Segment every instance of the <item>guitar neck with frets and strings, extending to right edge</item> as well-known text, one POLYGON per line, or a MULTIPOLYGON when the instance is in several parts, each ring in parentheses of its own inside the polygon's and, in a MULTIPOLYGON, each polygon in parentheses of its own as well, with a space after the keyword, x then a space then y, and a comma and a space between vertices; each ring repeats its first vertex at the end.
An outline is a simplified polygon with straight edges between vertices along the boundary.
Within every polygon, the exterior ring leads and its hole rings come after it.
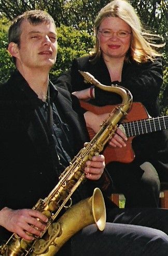
POLYGON ((143 119, 122 123, 127 137, 165 130, 168 128, 168 116, 143 119))

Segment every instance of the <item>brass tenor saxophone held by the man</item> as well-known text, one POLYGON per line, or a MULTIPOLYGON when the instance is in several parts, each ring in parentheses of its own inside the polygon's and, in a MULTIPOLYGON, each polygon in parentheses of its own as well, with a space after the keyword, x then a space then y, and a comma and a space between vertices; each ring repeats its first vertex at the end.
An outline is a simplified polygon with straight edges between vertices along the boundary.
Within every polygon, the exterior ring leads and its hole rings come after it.
POLYGON ((109 92, 115 92, 122 97, 122 103, 114 109, 101 124, 100 131, 90 143, 83 147, 77 156, 69 163, 69 166, 59 177, 59 183, 44 200, 39 199, 34 210, 38 210, 48 217, 46 230, 41 237, 35 237, 34 241, 27 241, 12 234, 8 241, 0 246, 0 254, 7 256, 44 255, 57 254, 65 242, 80 229, 92 223, 96 223, 100 231, 103 231, 106 222, 106 212, 103 195, 99 188, 95 188, 90 198, 84 199, 71 207, 71 196, 78 186, 86 180, 83 171, 87 160, 94 155, 99 155, 105 144, 113 136, 120 119, 127 114, 131 104, 131 93, 119 86, 105 86, 97 81, 88 72, 79 71, 85 81, 109 92), (59 219, 63 208, 69 208, 59 219), (54 222, 55 219, 58 219, 54 222))

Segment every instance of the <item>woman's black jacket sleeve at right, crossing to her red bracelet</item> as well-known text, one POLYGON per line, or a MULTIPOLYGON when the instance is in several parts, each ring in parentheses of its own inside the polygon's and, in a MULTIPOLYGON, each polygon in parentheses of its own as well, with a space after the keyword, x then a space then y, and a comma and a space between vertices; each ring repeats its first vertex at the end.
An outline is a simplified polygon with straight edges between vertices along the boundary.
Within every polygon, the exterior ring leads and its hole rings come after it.
MULTIPOLYGON (((130 63, 124 72, 121 85, 131 92, 133 101, 141 102, 151 116, 159 114, 158 96, 163 82, 161 59, 147 63, 130 63)), ((95 88, 95 98, 104 99, 104 105, 111 102, 111 94, 95 88)))

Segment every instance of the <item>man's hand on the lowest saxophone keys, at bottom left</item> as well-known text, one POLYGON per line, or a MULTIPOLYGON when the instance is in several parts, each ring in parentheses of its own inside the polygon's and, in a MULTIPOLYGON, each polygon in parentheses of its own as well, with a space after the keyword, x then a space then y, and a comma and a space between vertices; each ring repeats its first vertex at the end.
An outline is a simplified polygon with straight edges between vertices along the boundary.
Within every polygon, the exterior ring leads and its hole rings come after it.
POLYGON ((12 210, 5 207, 0 211, 0 225, 26 240, 34 239, 27 232, 40 236, 46 228, 45 223, 47 221, 45 215, 32 209, 12 210))

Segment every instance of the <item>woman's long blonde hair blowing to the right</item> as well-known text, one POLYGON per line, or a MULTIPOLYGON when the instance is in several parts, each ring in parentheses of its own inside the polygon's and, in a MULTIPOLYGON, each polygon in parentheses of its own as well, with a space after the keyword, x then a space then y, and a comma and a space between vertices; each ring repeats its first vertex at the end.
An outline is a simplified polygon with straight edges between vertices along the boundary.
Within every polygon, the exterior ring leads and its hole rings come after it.
POLYGON ((99 27, 102 21, 108 17, 120 18, 131 27, 132 40, 127 56, 125 56, 125 60, 132 58, 137 62, 146 62, 148 60, 153 61, 156 56, 162 56, 157 53, 153 47, 159 48, 163 47, 165 44, 151 43, 155 39, 162 39, 162 37, 145 31, 139 17, 129 2, 125 0, 114 0, 103 7, 95 19, 94 30, 96 38, 94 50, 92 52, 92 55, 94 56, 93 61, 96 61, 101 56, 101 49, 97 34, 99 33, 99 27))

